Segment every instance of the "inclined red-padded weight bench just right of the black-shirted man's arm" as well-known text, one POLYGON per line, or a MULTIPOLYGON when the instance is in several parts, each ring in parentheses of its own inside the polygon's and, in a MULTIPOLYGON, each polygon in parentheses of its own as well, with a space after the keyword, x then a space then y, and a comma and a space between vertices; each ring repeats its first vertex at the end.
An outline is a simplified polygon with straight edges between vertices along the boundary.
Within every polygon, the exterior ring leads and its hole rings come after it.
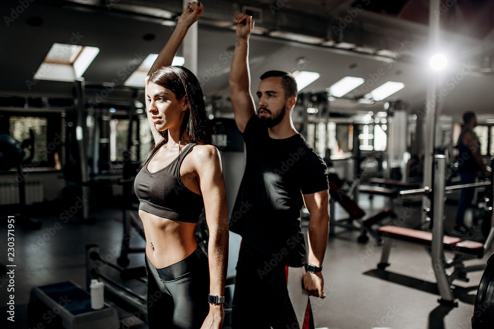
POLYGON ((342 191, 338 185, 329 181, 329 195, 331 196, 330 203, 330 217, 329 217, 329 235, 334 235, 334 226, 344 227, 348 230, 359 230, 361 231, 361 235, 357 239, 360 243, 366 243, 369 240, 367 233, 369 233, 376 241, 377 244, 381 244, 380 236, 371 228, 372 224, 379 222, 382 219, 385 219, 388 216, 393 214, 391 209, 385 209, 376 215, 363 219, 366 213, 362 210, 357 202, 353 200, 348 194, 342 191), (335 202, 338 202, 341 207, 348 213, 349 218, 346 219, 334 219, 334 206, 335 202), (357 220, 360 225, 355 226, 353 221, 357 220))

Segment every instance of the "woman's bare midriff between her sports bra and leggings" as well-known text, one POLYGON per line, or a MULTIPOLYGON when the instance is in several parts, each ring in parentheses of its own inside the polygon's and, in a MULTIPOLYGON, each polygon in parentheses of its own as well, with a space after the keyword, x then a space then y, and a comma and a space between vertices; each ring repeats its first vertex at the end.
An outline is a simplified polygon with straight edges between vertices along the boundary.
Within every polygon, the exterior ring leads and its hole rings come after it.
POLYGON ((197 248, 196 223, 165 219, 139 210, 146 235, 146 255, 156 268, 185 259, 197 248))

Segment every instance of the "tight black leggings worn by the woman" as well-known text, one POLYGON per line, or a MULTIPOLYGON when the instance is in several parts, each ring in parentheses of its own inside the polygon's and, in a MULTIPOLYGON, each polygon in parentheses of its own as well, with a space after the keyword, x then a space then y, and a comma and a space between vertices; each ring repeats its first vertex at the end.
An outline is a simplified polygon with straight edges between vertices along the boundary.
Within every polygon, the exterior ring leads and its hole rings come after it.
POLYGON ((149 328, 201 328, 209 312, 209 267, 201 248, 165 268, 146 256, 146 267, 149 328))

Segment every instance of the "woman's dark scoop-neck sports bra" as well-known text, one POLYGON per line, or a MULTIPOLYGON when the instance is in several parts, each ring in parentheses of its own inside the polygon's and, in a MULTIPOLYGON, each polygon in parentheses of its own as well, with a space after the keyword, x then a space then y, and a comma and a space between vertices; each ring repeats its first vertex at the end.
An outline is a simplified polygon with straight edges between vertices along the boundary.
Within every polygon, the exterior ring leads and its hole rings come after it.
POLYGON ((185 187, 180 180, 180 165, 195 145, 185 146, 175 160, 155 173, 148 171, 148 163, 153 157, 146 162, 134 180, 140 210, 167 219, 197 223, 204 208, 203 197, 185 187))

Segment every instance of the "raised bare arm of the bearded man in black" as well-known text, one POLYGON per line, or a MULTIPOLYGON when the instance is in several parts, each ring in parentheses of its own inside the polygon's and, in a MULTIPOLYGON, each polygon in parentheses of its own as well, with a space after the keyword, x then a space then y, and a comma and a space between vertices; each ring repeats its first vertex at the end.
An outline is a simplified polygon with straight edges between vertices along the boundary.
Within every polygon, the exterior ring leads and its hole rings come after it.
POLYGON ((230 97, 235 122, 240 132, 244 132, 248 120, 255 112, 254 100, 250 93, 250 73, 248 68, 248 38, 254 29, 252 16, 244 13, 235 15, 237 43, 230 69, 230 97))

